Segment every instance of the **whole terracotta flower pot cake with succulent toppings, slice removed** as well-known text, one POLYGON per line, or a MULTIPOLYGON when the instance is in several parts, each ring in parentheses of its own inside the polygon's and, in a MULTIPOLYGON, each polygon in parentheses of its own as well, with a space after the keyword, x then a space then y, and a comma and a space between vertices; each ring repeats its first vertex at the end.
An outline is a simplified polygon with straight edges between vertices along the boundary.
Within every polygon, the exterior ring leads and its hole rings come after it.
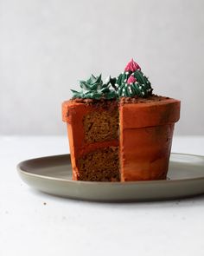
POLYGON ((153 95, 131 60, 118 78, 80 81, 62 104, 74 181, 149 181, 167 177, 180 101, 153 95))

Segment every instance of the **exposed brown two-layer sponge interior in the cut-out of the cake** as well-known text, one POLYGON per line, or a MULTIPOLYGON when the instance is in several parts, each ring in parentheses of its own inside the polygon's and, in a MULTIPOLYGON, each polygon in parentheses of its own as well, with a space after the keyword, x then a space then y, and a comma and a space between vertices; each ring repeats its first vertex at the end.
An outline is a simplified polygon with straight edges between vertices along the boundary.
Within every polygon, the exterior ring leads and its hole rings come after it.
POLYGON ((79 181, 119 181, 118 102, 75 100, 89 111, 83 116, 85 147, 77 160, 79 181))

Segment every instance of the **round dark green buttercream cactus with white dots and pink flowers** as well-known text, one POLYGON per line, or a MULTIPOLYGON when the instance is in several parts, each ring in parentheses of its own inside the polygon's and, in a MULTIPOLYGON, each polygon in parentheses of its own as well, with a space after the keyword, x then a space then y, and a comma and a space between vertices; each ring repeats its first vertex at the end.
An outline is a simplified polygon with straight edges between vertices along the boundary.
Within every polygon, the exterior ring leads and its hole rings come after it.
POLYGON ((148 77, 143 75, 137 62, 131 62, 124 68, 124 72, 118 75, 116 80, 119 97, 148 97, 152 95, 151 83, 148 77))

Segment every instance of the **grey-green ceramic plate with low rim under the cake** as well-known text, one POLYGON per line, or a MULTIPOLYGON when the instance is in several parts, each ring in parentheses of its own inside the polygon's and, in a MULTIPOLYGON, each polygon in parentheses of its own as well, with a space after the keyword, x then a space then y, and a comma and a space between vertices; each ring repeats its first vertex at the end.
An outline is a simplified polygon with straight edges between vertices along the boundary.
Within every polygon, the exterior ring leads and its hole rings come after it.
POLYGON ((72 181, 70 155, 22 161, 23 181, 42 192, 78 200, 170 200, 204 194, 204 156, 171 154, 167 181, 72 181))

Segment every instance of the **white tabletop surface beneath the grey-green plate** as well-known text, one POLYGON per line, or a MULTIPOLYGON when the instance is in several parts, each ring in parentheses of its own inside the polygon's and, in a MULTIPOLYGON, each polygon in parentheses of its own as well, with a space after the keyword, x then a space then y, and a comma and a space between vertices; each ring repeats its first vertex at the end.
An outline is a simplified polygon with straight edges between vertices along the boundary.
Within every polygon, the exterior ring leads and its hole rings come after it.
MULTIPOLYGON (((93 203, 42 194, 20 180, 17 162, 67 154, 67 143, 66 137, 0 137, 1 256, 204 255, 204 195, 93 203)), ((175 137, 172 151, 204 155, 203 146, 204 137, 175 137)))

